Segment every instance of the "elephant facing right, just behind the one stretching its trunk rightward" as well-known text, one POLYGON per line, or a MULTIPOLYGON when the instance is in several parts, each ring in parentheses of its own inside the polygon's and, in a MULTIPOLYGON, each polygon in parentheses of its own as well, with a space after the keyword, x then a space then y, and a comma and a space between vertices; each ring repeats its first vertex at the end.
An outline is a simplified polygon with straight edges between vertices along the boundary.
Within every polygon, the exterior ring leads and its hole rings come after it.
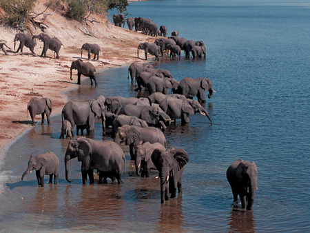
POLYGON ((213 92, 216 92, 212 88, 211 80, 208 78, 197 78, 192 79, 189 77, 185 77, 178 83, 178 94, 185 95, 186 98, 192 99, 193 97, 197 97, 199 102, 205 102, 205 90, 209 92, 208 98, 211 99, 213 96, 213 92))

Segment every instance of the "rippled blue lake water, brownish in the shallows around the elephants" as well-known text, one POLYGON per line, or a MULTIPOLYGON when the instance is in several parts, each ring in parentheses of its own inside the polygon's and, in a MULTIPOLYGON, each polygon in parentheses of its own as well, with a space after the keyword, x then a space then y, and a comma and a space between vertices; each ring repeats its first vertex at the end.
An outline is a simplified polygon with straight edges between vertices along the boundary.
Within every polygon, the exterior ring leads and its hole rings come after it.
MULTIPOLYGON (((209 77, 216 90, 205 104, 213 125, 196 114, 188 125, 177 122, 165 131, 169 147, 189 154, 182 196, 161 205, 157 173, 137 177, 125 145, 122 185, 83 186, 78 161, 70 161, 68 183, 68 140, 58 139, 56 116, 50 126, 26 132, 1 162, 0 231, 309 232, 309 2, 143 1, 130 3, 127 12, 167 26, 168 34, 178 30, 179 37, 206 43, 206 59, 149 57, 177 80, 209 77), (59 185, 37 188, 34 174, 20 181, 30 154, 50 150, 61 161, 59 185), (225 172, 237 159, 258 167, 250 212, 231 206, 225 172)), ((96 88, 85 79, 67 94, 74 100, 137 96, 127 67, 101 73, 96 88)), ((95 127, 95 139, 102 140, 100 121, 95 127)))

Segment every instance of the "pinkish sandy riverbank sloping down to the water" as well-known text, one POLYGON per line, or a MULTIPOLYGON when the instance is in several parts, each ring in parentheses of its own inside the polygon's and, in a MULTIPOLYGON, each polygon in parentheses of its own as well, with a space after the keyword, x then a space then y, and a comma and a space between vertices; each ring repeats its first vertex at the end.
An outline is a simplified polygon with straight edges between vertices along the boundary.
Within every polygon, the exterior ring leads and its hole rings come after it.
MULTIPOLYGON (((34 12, 45 10, 44 1, 37 3, 34 12)), ((97 43, 101 47, 99 61, 87 60, 87 51, 83 50, 83 61, 93 63, 97 71, 117 68, 133 61, 136 57, 138 43, 153 42, 154 37, 147 37, 140 32, 132 32, 112 25, 105 17, 92 16, 87 23, 79 23, 63 17, 60 9, 48 9, 39 17, 48 28, 45 33, 57 37, 63 43, 59 59, 54 59, 53 52, 48 50, 47 57, 31 54, 14 54, 12 42, 17 31, 0 26, 1 38, 7 41, 9 56, 0 51, 0 150, 31 127, 31 118, 27 117, 27 103, 32 97, 47 97, 52 100, 52 116, 59 114, 67 101, 62 92, 76 88, 77 71, 73 70, 70 80, 72 61, 81 59, 83 43, 97 43)), ((39 34, 39 28, 32 28, 32 34, 39 34)), ((19 42, 17 42, 18 48, 19 42)), ((41 54, 43 42, 37 41, 34 48, 41 54)), ((23 52, 30 52, 28 48, 23 52)), ((88 78, 87 78, 88 79, 88 78)), ((37 115, 36 122, 41 122, 37 115)), ((46 123, 46 119, 45 119, 46 123)))

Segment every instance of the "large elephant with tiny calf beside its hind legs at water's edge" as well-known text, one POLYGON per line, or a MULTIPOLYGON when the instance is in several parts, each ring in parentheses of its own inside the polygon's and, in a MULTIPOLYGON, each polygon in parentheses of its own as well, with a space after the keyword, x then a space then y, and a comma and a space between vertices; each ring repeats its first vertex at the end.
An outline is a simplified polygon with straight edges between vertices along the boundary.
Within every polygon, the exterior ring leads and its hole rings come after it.
MULTIPOLYGON (((90 101, 69 101, 65 103, 61 111, 61 119, 68 120, 72 125, 72 136, 74 136, 74 125, 86 125, 87 134, 94 135, 94 119, 100 117, 102 121, 103 134, 105 134, 105 97, 102 95, 90 101)), ((77 130, 76 130, 77 132, 77 130)))

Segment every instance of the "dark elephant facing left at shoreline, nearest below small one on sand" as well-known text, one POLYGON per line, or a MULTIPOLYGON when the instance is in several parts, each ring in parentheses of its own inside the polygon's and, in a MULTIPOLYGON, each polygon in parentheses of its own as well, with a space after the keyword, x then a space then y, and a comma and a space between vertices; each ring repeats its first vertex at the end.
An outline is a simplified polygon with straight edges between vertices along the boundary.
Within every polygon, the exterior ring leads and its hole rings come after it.
POLYGON ((81 59, 72 61, 70 67, 70 79, 72 80, 72 70, 78 70, 78 81, 76 84, 81 85, 81 75, 90 77, 90 85, 92 85, 92 79, 94 79, 95 85, 97 85, 97 72, 94 65, 90 62, 83 62, 81 59))

